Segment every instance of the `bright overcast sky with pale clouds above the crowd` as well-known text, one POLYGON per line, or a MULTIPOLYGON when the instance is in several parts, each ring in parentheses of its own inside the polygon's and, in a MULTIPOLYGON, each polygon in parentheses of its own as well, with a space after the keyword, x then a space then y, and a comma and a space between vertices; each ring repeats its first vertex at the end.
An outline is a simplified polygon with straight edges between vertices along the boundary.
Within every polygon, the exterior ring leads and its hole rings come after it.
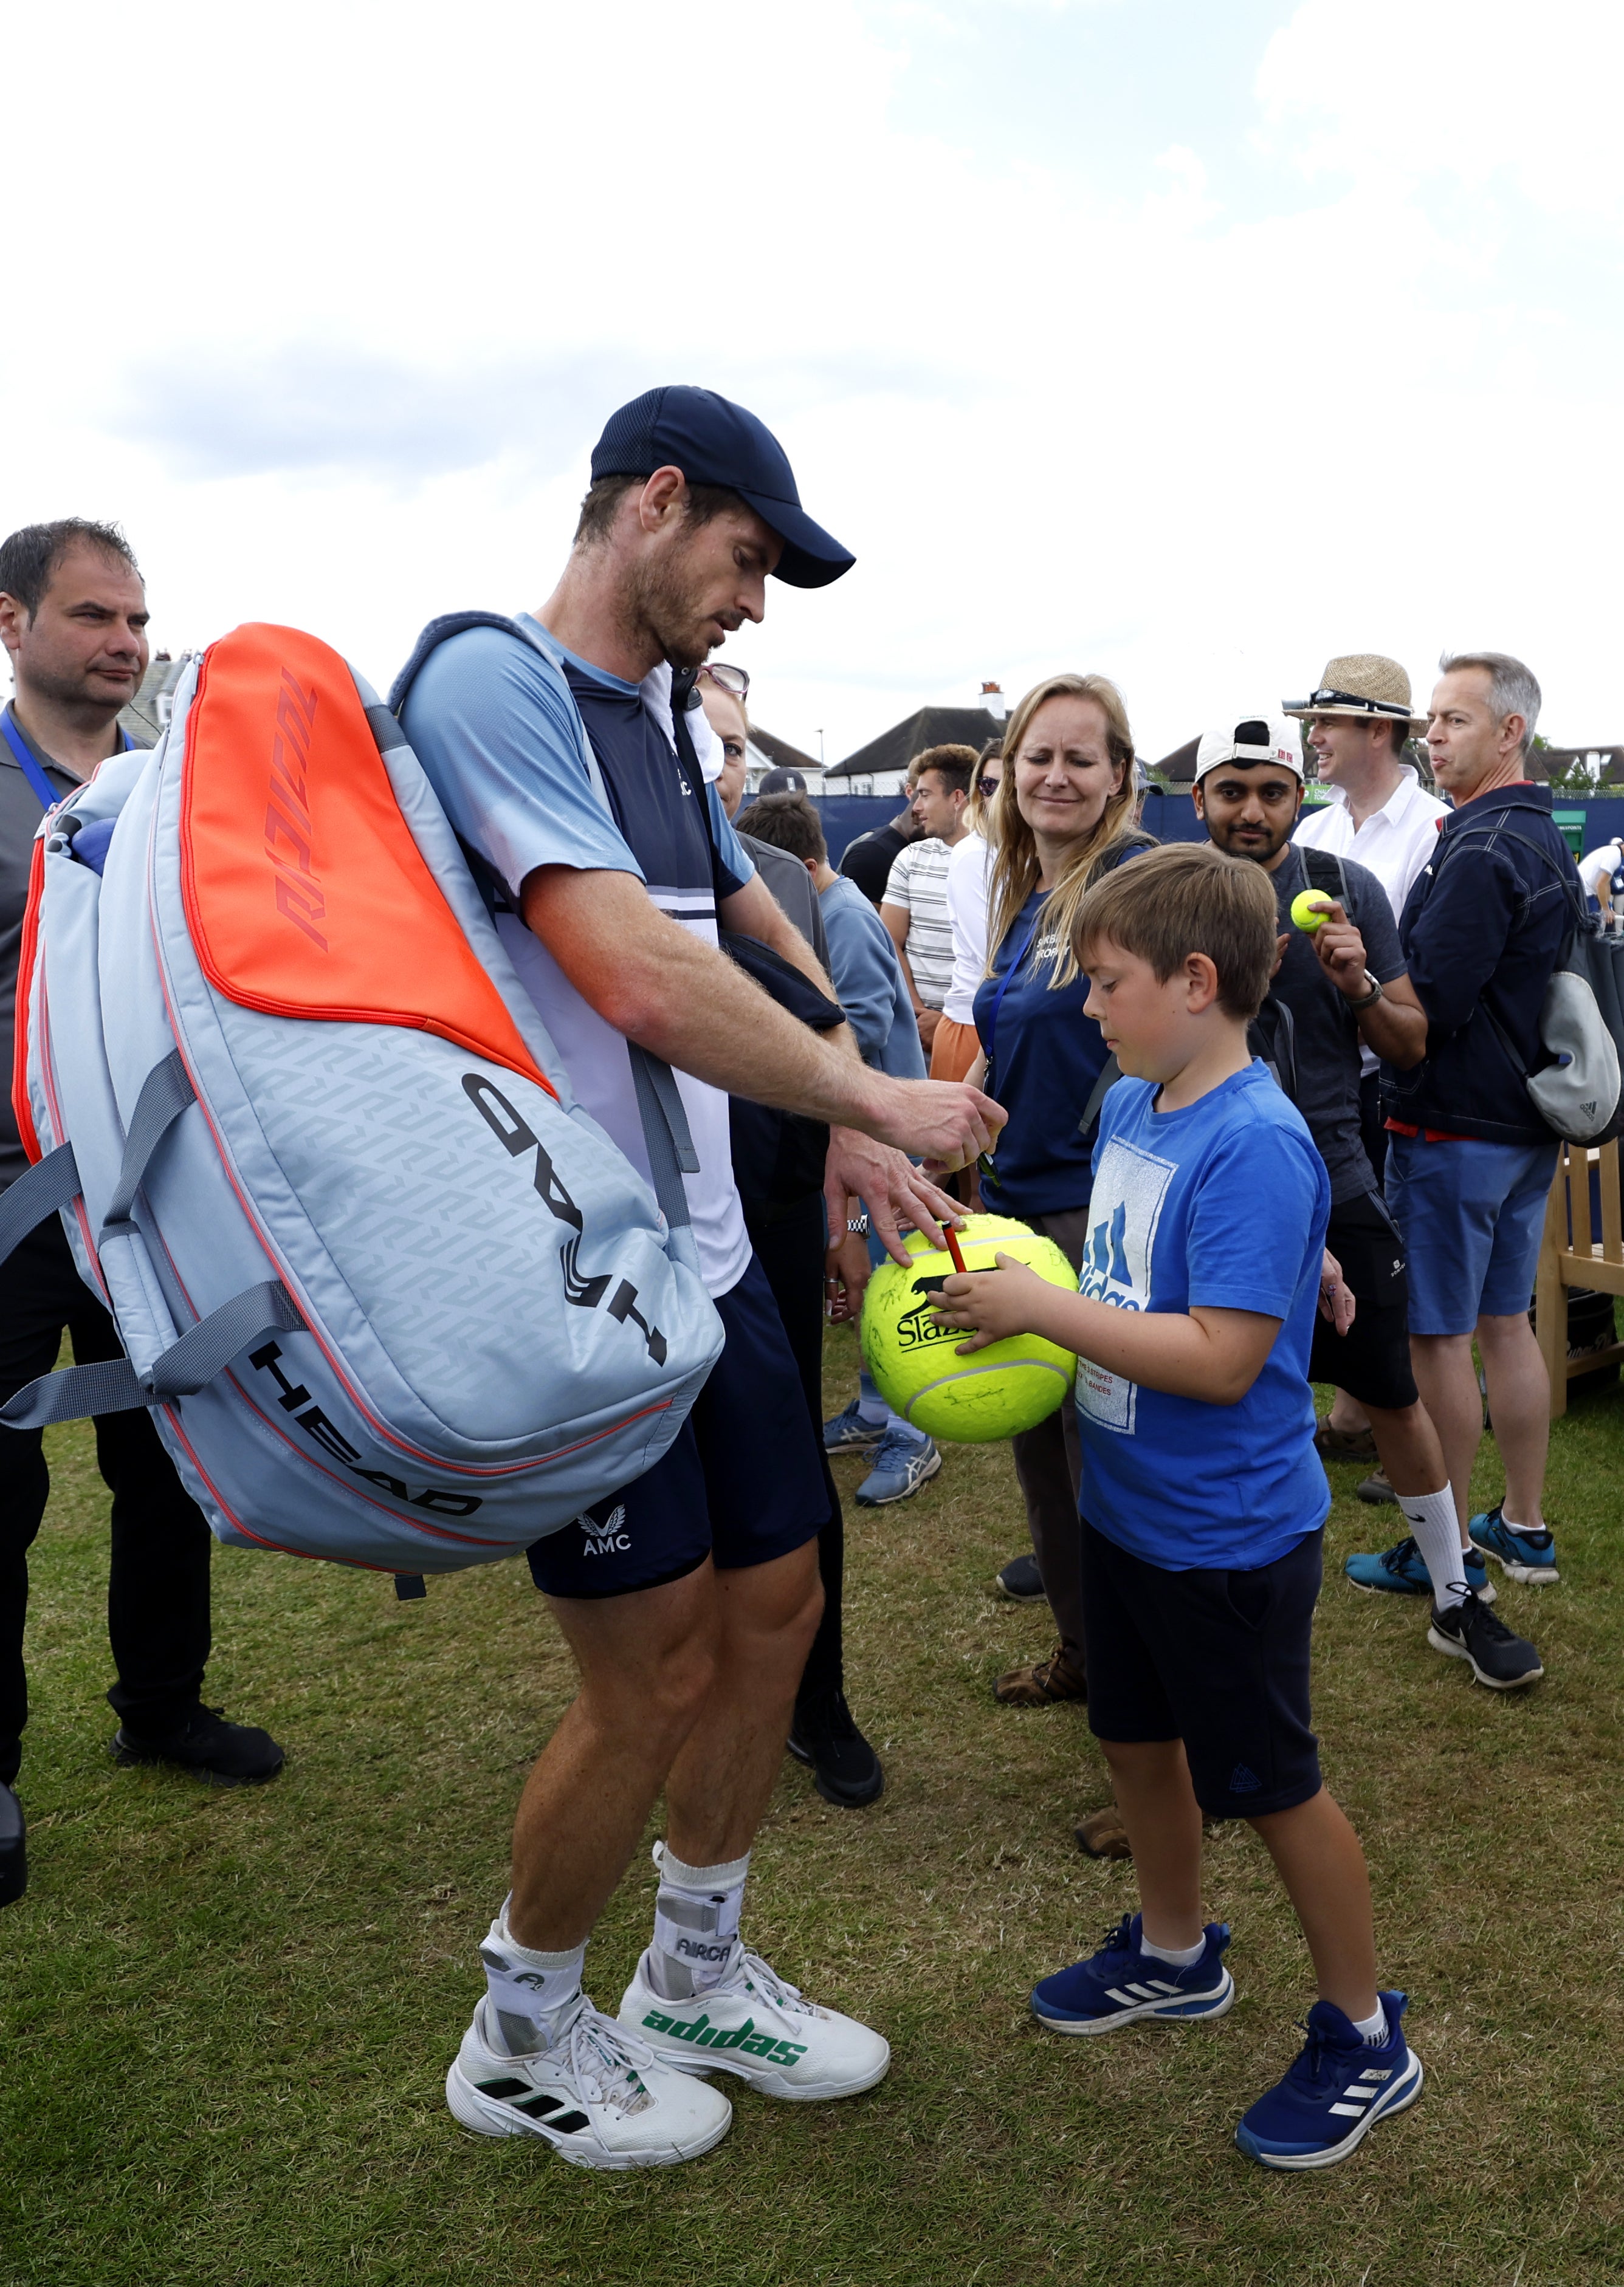
POLYGON ((538 604, 606 412, 759 412, 858 556, 727 656, 828 759, 1114 675, 1141 752, 1334 652, 1624 739, 1624 11, 82 0, 5 37, 0 528, 387 684, 538 604))

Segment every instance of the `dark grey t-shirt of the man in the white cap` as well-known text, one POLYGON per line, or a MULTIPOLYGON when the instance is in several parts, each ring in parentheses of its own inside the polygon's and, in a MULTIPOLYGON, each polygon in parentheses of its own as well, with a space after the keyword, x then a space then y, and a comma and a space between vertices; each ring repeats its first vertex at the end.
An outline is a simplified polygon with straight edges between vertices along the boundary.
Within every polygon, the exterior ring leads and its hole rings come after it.
MULTIPOLYGON (((1343 867, 1347 919, 1366 940, 1366 967, 1386 986, 1407 967, 1393 908, 1368 867, 1354 864, 1352 858, 1343 860, 1343 867)), ((1274 871, 1274 903, 1290 942, 1269 990, 1292 1013, 1297 1109, 1331 1178, 1331 1205, 1343 1208, 1350 1198, 1375 1192, 1377 1180, 1359 1141, 1359 1020, 1320 967, 1313 940, 1295 929, 1290 917, 1292 899, 1308 887, 1320 885, 1308 880, 1304 855, 1290 844, 1274 871)), ((1327 897, 1336 894, 1327 887, 1327 897)))

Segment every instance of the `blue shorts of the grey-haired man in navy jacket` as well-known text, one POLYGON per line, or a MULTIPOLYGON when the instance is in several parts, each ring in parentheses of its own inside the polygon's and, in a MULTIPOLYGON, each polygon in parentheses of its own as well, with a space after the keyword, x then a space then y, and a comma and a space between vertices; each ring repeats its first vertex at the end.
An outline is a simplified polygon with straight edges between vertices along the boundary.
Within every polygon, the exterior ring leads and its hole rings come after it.
POLYGON ((1411 1333, 1471 1333, 1535 1290, 1555 1144, 1388 1137, 1386 1203, 1404 1237, 1411 1333))

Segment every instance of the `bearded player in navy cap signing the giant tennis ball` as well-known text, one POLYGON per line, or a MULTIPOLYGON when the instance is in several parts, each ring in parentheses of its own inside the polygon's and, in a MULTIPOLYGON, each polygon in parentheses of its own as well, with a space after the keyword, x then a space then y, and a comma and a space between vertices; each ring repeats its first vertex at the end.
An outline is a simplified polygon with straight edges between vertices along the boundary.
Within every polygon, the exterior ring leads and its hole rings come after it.
POLYGON ((830 1226, 862 1198, 899 1260, 899 1214, 926 1233, 952 1214, 906 1153, 961 1166, 1002 1114, 965 1084, 869 1070, 849 1027, 812 1031, 718 954, 721 922, 828 993, 704 787, 684 704, 691 670, 762 617, 769 574, 821 588, 849 565, 753 414, 707 389, 654 389, 599 437, 540 611, 439 622, 396 684, 576 1098, 640 1169, 627 1043, 675 1066, 698 1150, 693 1235, 727 1336, 670 1452, 531 1551, 581 1690, 526 1784, 512 1891, 483 1946, 487 1994, 446 2095, 467 2127, 540 2136, 588 2168, 718 2143, 732 2111, 698 2074, 794 2099, 853 2095, 890 2065, 878 2033, 803 1999, 739 1939, 819 1619, 826 1491, 743 1226, 727 1095, 828 1121, 830 1226), (586 2001, 581 1962, 661 1788, 654 1942, 615 2019, 586 2001))

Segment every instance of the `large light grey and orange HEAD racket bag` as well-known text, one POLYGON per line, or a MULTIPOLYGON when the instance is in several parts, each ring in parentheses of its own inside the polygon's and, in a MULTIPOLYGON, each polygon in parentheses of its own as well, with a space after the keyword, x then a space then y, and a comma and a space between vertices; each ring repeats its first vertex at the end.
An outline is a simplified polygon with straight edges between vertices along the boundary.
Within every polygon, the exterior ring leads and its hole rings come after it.
POLYGON ((162 743, 50 814, 18 1043, 39 1164, 0 1253, 59 1210, 128 1363, 0 1423, 153 1407, 220 1539, 512 1555, 659 1459, 721 1349, 670 1075, 638 1066, 656 1201, 398 723, 313 636, 213 645, 162 743))

